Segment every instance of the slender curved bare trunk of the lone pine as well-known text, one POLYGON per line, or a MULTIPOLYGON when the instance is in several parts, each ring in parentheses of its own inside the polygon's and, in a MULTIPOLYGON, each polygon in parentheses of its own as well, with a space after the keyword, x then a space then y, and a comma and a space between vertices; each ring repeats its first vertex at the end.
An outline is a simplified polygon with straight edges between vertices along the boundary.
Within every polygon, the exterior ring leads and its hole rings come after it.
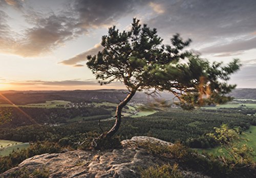
POLYGON ((120 102, 117 107, 116 107, 116 122, 115 125, 107 132, 105 133, 104 137, 108 137, 111 138, 119 129, 120 124, 121 124, 121 119, 122 119, 122 108, 132 99, 132 97, 135 95, 136 90, 132 91, 131 93, 129 93, 129 95, 127 95, 127 97, 120 102))

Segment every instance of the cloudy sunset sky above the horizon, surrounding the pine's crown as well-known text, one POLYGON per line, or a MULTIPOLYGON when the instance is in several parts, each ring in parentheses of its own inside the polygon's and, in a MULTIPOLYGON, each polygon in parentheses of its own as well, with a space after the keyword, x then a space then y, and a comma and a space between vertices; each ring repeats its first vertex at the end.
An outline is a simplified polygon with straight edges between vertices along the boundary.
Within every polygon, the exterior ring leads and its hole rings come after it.
POLYGON ((0 90, 95 90, 86 56, 102 50, 102 35, 132 18, 157 28, 169 44, 179 33, 210 61, 239 58, 229 83, 256 87, 255 0, 0 0, 0 90))

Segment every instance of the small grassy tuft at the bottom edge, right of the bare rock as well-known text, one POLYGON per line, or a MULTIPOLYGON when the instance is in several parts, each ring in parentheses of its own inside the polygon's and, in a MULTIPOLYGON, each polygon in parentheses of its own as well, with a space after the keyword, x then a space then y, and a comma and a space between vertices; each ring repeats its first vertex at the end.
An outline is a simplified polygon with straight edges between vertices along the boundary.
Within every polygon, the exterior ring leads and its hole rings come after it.
POLYGON ((149 167, 141 172, 142 178, 182 178, 178 164, 149 167))

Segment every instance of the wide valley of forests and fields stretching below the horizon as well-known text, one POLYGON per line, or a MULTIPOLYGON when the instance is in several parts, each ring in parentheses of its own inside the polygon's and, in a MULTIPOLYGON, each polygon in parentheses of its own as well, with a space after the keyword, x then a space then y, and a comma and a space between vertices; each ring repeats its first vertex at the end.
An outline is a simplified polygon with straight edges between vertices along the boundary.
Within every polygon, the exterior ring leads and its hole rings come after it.
MULTIPOLYGON (((115 122, 118 104, 117 100, 113 101, 116 93, 121 93, 118 94, 121 96, 122 91, 98 92, 100 95, 95 91, 89 94, 90 99, 80 97, 81 94, 75 91, 68 92, 73 96, 72 99, 68 99, 66 92, 63 92, 64 97, 55 96, 54 100, 48 100, 49 93, 39 92, 36 95, 44 96, 44 100, 31 99, 34 93, 14 93, 14 96, 19 95, 19 99, 11 100, 12 96, 9 100, 17 105, 4 104, 2 100, 0 109, 11 112, 11 121, 0 126, 0 143, 3 146, 0 150, 0 160, 8 159, 11 155, 23 155, 30 149, 35 152, 37 151, 34 149, 42 149, 42 152, 46 152, 48 149, 38 148, 40 143, 77 149, 77 142, 84 141, 84 138, 91 139, 102 131, 109 130, 115 122), (108 99, 105 99, 106 95, 109 95, 108 99), (23 105, 18 105, 20 99, 23 105)), ((11 96, 8 93, 5 95, 11 96)), ((239 127, 243 132, 242 136, 248 139, 242 143, 256 149, 255 100, 235 99, 224 105, 186 111, 174 104, 177 101, 173 100, 172 95, 164 94, 164 97, 166 102, 163 102, 163 98, 155 100, 139 94, 123 108, 123 123, 116 137, 121 141, 134 136, 155 137, 167 142, 179 142, 198 152, 217 156, 225 154, 225 151, 214 140, 208 138, 207 133, 213 132, 214 127, 227 124, 229 128, 239 127)))

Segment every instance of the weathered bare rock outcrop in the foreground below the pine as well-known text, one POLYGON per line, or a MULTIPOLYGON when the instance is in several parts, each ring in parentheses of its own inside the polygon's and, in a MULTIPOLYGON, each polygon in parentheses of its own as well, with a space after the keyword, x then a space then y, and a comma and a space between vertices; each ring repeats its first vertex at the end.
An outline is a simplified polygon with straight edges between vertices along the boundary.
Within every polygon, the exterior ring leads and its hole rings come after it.
MULTIPOLYGON (((13 172, 25 168, 29 172, 46 169, 49 177, 140 177, 140 170, 149 166, 166 164, 161 158, 136 148, 139 142, 172 145, 151 137, 133 137, 121 142, 122 148, 108 152, 75 150, 55 154, 42 154, 29 158, 17 167, 0 175, 10 177, 13 172)), ((185 172, 186 177, 205 177, 185 172)))

